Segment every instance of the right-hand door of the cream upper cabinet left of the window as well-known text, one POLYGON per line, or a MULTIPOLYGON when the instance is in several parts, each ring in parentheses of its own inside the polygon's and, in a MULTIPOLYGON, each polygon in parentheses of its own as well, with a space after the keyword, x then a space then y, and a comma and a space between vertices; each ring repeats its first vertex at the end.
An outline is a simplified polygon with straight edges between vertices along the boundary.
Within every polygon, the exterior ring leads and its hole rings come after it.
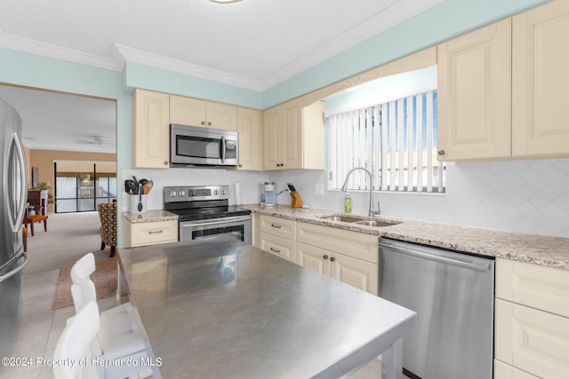
POLYGON ((281 106, 281 170, 302 168, 302 108, 300 100, 281 106))

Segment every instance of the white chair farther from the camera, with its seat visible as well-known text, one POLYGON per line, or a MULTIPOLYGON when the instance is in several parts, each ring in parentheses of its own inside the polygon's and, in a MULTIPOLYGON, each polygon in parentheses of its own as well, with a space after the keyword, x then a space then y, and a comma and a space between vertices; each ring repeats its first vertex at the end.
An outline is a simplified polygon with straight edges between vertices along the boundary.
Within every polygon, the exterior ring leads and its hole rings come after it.
MULTIPOLYGON (((90 278, 94 271, 95 260, 92 253, 79 259, 71 268, 73 282, 71 295, 76 312, 80 312, 85 304, 91 302, 96 304, 95 285, 90 278)), ((138 361, 136 366, 105 366, 104 374, 108 378, 125 377, 148 368, 141 362, 142 358, 148 358, 147 344, 140 334, 133 312, 131 304, 122 304, 100 313, 99 332, 91 342, 92 355, 100 359, 135 359, 138 361)))

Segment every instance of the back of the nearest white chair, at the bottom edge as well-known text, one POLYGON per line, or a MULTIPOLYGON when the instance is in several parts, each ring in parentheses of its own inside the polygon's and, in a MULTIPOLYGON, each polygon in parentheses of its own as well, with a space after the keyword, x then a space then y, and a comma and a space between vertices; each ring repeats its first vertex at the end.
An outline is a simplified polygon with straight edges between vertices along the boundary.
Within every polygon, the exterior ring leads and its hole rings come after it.
POLYGON ((65 364, 53 365, 55 379, 97 379, 100 368, 92 366, 91 343, 99 331, 99 307, 94 302, 85 304, 80 312, 68 320, 55 346, 53 359, 65 364), (75 364, 70 364, 75 362, 75 364))

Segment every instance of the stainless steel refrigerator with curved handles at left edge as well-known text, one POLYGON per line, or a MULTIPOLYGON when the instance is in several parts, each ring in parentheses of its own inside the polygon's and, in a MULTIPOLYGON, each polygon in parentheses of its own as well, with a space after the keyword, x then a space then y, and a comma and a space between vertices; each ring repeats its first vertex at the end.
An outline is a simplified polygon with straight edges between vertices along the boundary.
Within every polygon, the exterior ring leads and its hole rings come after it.
POLYGON ((20 133, 20 114, 0 99, 0 357, 12 345, 20 323, 21 270, 29 261, 21 233, 28 182, 20 133))

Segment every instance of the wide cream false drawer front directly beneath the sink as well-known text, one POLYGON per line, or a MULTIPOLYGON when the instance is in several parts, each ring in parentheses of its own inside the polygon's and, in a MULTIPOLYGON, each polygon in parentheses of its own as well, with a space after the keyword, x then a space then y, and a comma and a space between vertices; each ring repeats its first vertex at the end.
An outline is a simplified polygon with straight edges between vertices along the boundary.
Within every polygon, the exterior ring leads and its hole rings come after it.
POLYGON ((296 241, 373 264, 379 262, 379 240, 371 234, 299 222, 296 223, 296 241))

